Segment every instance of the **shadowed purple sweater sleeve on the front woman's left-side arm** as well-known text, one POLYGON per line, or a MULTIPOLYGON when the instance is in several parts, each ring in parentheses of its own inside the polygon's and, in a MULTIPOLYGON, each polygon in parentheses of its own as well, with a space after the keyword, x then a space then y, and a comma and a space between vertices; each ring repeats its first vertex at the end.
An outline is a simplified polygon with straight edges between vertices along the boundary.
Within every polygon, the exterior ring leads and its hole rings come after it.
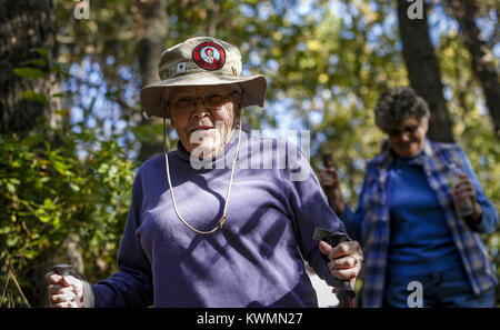
POLYGON ((91 284, 94 307, 147 307, 152 304, 151 263, 136 234, 141 223, 142 182, 138 172, 132 202, 118 254, 119 271, 91 284))

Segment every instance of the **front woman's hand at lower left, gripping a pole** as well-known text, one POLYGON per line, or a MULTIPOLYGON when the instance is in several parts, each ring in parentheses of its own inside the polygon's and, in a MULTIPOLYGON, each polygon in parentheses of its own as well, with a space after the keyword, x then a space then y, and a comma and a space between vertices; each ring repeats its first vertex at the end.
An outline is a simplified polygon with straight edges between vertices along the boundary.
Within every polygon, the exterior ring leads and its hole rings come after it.
POLYGON ((49 282, 49 301, 57 308, 81 308, 83 307, 83 283, 72 277, 61 277, 53 271, 46 274, 49 282))

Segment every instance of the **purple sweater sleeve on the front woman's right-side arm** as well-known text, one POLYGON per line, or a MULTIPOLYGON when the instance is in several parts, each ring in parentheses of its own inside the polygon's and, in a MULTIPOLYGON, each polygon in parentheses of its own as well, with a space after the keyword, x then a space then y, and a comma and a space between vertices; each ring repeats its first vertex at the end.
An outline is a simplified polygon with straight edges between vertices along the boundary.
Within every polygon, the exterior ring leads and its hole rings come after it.
POLYGON ((286 171, 284 182, 288 188, 290 218, 299 249, 303 259, 318 276, 328 284, 336 286, 338 282, 328 269, 328 257, 321 253, 319 241, 312 237, 317 227, 332 232, 346 232, 346 230, 342 221, 328 204, 327 197, 309 161, 300 149, 297 148, 296 151, 288 153, 292 160, 288 162, 290 168, 286 171))

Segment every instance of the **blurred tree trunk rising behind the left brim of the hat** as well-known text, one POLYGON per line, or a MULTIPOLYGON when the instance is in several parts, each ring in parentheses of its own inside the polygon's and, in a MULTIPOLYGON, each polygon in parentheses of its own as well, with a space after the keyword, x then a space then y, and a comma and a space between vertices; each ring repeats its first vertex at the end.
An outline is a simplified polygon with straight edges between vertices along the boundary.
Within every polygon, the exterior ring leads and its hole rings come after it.
MULTIPOLYGON (((160 54, 164 49, 168 29, 168 14, 166 0, 140 1, 141 33, 139 41, 139 69, 142 87, 160 80, 158 76, 158 63, 160 54)), ((146 120, 142 118, 141 124, 158 123, 157 118, 146 120)), ((142 142, 138 156, 140 161, 146 161, 152 156, 162 152, 161 137, 156 141, 142 142)))

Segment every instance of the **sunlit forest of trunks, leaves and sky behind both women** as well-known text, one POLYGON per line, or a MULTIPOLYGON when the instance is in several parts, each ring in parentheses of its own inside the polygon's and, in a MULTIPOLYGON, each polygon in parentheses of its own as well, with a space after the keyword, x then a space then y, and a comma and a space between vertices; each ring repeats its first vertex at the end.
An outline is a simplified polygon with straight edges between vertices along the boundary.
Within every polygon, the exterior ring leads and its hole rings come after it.
MULTIPOLYGON (((57 263, 89 281, 116 271, 134 172, 162 151, 139 90, 159 79, 163 49, 194 36, 238 46, 243 73, 267 77, 246 127, 309 130, 311 163, 332 154, 351 206, 384 138, 377 99, 411 86, 430 104, 429 138, 466 150, 499 210, 499 6, 0 0, 0 306, 47 306, 57 263)), ((500 266, 500 230, 483 239, 500 266)))

